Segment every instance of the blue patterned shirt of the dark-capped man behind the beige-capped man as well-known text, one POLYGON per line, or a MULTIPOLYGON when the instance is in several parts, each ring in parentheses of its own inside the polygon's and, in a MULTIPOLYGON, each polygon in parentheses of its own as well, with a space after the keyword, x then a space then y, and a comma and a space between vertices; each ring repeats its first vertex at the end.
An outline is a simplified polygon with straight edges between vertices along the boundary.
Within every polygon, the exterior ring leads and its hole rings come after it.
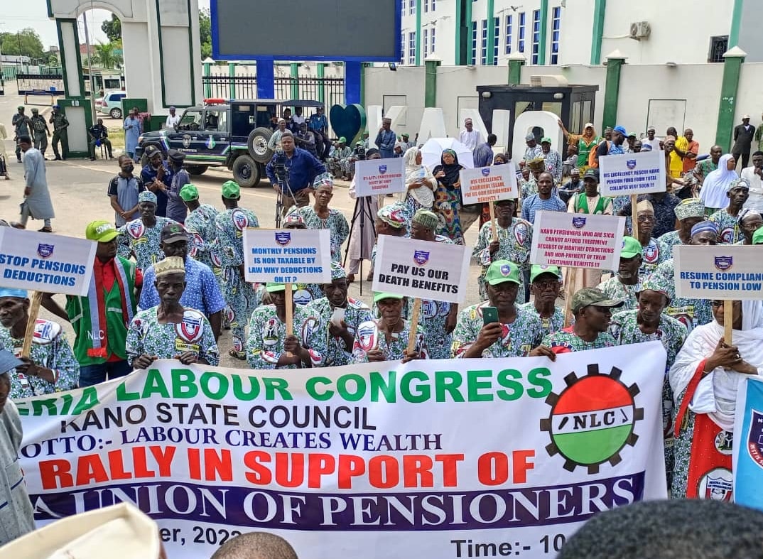
MULTIPOLYGON (((143 290, 140 291, 138 310, 148 310, 159 304, 159 294, 153 282, 156 271, 153 265, 143 271, 143 290)), ((185 257, 185 291, 180 297, 183 307, 200 310, 209 317, 225 308, 225 299, 212 268, 190 256, 185 257)))

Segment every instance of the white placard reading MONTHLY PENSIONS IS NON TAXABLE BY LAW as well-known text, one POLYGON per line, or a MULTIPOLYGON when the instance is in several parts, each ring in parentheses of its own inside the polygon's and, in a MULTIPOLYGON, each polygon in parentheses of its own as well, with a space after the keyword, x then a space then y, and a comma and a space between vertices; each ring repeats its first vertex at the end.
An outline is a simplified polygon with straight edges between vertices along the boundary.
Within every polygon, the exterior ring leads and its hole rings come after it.
POLYGON ((327 229, 246 229, 243 254, 246 281, 331 281, 331 236, 327 229))

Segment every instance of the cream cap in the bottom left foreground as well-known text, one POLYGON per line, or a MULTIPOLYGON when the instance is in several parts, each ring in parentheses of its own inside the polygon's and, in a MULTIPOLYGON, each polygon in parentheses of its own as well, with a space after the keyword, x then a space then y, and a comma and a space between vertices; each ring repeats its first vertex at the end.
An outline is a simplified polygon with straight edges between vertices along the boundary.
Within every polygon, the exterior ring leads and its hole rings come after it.
POLYGON ((13 559, 158 559, 159 527, 128 503, 57 520, 0 548, 13 559))

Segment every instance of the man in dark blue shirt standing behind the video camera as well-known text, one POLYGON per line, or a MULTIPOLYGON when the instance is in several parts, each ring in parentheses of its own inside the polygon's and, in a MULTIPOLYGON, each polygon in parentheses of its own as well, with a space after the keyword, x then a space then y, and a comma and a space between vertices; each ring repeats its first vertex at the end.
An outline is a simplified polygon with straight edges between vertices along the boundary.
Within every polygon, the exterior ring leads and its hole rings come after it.
POLYGON ((315 177, 326 172, 326 166, 311 153, 295 147, 294 135, 285 131, 281 136, 281 151, 275 153, 265 168, 273 190, 282 192, 284 216, 292 205, 307 206, 315 177), (282 175, 282 176, 278 176, 282 175))

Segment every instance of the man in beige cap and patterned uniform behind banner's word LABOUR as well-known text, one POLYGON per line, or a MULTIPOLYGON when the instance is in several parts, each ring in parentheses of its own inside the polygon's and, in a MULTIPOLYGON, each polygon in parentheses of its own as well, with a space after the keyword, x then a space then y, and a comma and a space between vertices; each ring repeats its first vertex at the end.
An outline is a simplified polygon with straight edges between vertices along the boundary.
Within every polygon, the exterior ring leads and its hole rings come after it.
POLYGON ((183 259, 169 256, 154 271, 161 302, 141 310, 130 323, 125 344, 130 364, 145 369, 156 359, 177 359, 183 365, 219 365, 211 324, 200 311, 180 304, 185 289, 183 259))

